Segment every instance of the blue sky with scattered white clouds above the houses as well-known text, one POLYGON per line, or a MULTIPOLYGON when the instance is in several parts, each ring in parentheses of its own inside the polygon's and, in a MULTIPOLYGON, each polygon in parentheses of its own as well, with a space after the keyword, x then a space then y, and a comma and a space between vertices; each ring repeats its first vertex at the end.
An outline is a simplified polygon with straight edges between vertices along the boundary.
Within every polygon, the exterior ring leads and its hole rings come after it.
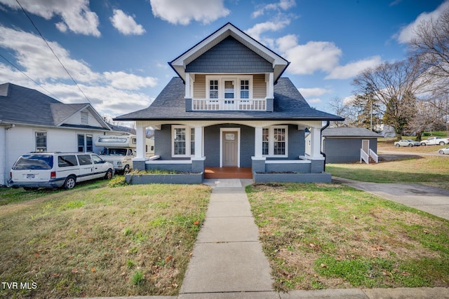
POLYGON ((332 112, 358 71, 402 60, 413 26, 444 8, 449 0, 0 0, 0 83, 113 118, 147 107, 176 76, 167 62, 232 22, 290 61, 283 76, 332 112))

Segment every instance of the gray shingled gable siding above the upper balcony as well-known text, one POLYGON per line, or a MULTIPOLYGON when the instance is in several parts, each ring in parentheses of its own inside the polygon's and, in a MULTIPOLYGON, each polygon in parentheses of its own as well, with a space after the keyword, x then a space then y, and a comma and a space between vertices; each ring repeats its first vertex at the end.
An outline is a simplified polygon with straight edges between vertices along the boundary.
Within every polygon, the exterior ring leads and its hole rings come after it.
POLYGON ((187 64, 186 73, 269 73, 273 64, 229 36, 187 64))

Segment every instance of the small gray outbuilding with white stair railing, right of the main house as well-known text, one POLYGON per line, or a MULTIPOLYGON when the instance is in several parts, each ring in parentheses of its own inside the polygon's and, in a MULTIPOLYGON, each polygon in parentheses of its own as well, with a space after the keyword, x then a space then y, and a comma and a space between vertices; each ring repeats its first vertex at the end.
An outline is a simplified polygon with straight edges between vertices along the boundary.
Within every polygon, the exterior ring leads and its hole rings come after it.
POLYGON ((326 163, 379 162, 380 134, 364 127, 328 127, 321 135, 326 163))

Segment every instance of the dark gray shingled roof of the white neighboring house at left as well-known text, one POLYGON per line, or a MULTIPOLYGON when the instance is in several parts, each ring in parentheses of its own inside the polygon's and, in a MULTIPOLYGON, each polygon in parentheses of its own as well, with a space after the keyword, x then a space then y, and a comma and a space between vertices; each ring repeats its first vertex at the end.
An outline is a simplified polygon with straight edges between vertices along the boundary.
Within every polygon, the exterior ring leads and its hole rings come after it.
POLYGON ((0 85, 0 107, 0 123, 49 127, 62 126, 70 116, 88 109, 102 125, 88 128, 111 130, 91 104, 64 104, 37 90, 12 83, 0 85))

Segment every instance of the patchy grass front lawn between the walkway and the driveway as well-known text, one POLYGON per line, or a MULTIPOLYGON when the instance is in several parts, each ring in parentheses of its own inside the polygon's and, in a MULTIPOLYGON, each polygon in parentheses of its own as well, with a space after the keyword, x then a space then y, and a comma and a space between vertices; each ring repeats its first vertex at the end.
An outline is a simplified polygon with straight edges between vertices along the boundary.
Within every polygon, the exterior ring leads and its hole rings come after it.
POLYGON ((246 192, 278 291, 449 286, 449 221, 337 184, 246 192))

